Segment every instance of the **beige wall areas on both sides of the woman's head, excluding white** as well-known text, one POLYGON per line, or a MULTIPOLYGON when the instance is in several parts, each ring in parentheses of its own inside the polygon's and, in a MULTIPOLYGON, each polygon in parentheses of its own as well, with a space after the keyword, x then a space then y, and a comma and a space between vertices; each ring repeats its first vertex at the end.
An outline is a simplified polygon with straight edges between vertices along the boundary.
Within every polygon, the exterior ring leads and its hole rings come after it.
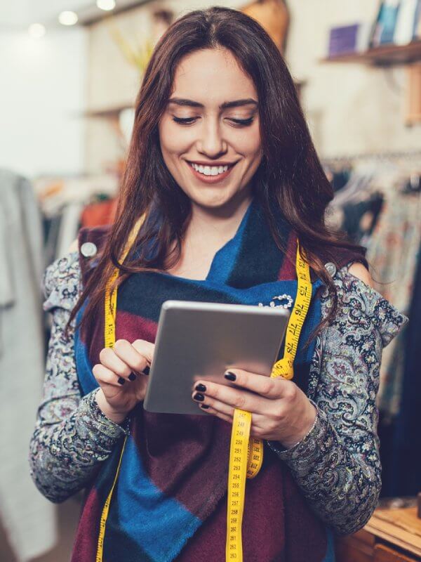
MULTIPOLYGON (((160 4, 181 15, 215 3, 171 0, 160 4)), ((220 4, 239 8, 247 2, 232 0, 220 4)), ((420 127, 408 127, 403 120, 406 73, 402 67, 373 69, 361 64, 321 63, 326 56, 330 27, 361 21, 369 24, 375 19, 378 6, 377 0, 288 1, 290 28, 285 56, 293 77, 305 82, 302 105, 321 156, 421 146, 420 127)), ((135 29, 140 33, 147 29, 149 11, 150 6, 142 6, 117 15, 116 21, 123 33, 134 37, 135 29)), ((124 62, 122 53, 109 42, 105 22, 93 25, 89 35, 87 107, 116 107, 134 98, 138 77, 133 67, 124 62), (114 79, 116 75, 119 80, 114 79)), ((104 146, 105 154, 112 157, 115 153, 106 128, 104 123, 88 124, 86 165, 90 171, 98 171, 102 166, 102 155, 95 150, 99 139, 110 141, 104 146)))

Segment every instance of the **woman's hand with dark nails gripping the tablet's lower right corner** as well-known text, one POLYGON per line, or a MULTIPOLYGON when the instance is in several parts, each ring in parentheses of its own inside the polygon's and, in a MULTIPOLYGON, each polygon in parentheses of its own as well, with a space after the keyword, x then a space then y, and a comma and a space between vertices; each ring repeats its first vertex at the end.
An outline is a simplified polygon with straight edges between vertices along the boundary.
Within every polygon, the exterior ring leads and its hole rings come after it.
POLYGON ((235 387, 201 379, 195 382, 192 398, 201 409, 230 423, 235 408, 246 410, 252 414, 251 436, 280 441, 286 448, 312 428, 316 409, 293 381, 241 369, 230 369, 225 378, 235 387))

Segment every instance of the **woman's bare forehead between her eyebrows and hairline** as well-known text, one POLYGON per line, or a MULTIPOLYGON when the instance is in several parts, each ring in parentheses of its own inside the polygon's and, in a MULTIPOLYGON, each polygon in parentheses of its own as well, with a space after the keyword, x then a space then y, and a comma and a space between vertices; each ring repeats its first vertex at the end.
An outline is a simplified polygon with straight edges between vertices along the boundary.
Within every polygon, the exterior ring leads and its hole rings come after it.
POLYGON ((194 51, 182 58, 175 70, 172 95, 203 105, 258 97, 253 80, 234 55, 222 48, 194 51))

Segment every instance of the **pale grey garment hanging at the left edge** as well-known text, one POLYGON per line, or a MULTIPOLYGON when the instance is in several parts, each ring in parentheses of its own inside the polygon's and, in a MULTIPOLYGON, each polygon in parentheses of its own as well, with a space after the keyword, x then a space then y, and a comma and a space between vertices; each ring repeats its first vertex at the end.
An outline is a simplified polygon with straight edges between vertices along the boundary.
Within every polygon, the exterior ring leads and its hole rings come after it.
POLYGON ((41 216, 31 183, 0 170, 0 517, 19 561, 55 544, 55 511, 34 488, 27 447, 44 378, 41 216))

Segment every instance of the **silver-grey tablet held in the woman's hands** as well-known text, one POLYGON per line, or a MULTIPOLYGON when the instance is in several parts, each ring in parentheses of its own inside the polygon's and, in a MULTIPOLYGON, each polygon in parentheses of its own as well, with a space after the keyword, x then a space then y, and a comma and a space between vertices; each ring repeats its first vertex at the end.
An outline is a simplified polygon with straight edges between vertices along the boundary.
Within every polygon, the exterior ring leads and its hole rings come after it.
POLYGON ((192 400, 195 381, 230 384, 230 367, 269 376, 289 314, 281 306, 163 302, 145 410, 206 415, 192 400))

